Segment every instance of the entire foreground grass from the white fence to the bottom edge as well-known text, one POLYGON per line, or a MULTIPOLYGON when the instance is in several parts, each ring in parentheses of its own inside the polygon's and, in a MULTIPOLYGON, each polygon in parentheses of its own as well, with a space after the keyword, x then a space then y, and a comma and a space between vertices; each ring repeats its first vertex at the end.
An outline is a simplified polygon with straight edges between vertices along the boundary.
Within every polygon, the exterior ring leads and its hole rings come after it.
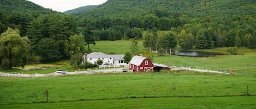
POLYGON ((56 108, 82 108, 87 105, 92 108, 181 108, 183 106, 177 102, 183 102, 184 108, 222 107, 224 104, 228 104, 224 107, 240 105, 250 108, 255 106, 255 96, 244 96, 247 85, 249 94, 256 95, 255 76, 248 75, 161 72, 1 78, 0 107, 36 108, 54 104, 56 108), (35 104, 46 102, 46 89, 49 91, 49 102, 58 103, 35 104), (172 104, 174 100, 177 101, 172 104), (79 104, 76 101, 82 102, 78 105, 80 107, 72 105, 79 104), (109 105, 104 102, 109 102, 109 105))

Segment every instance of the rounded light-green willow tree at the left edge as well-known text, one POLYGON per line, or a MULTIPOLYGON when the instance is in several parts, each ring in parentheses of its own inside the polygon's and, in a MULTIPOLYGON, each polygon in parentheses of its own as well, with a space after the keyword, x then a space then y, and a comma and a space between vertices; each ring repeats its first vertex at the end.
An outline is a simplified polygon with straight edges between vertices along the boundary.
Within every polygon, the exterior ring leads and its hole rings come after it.
POLYGON ((29 56, 29 40, 18 29, 8 28, 0 35, 0 68, 25 67, 29 56))

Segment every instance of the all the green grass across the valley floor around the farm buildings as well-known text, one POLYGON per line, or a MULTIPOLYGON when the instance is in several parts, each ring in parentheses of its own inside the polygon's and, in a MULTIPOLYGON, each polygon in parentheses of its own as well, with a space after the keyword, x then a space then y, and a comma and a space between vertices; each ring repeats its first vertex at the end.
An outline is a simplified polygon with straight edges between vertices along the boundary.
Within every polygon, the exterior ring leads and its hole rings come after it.
MULTIPOLYGON (((131 41, 97 41, 94 52, 124 54, 131 41), (122 44, 121 44, 122 43, 122 44), (112 46, 110 46, 112 45, 112 46), (123 45, 123 46, 118 46, 123 45)), ((154 55, 153 63, 169 65, 169 55, 154 55)), ((212 49, 222 51, 228 48, 212 49)), ((255 108, 256 53, 241 48, 242 55, 186 57, 171 55, 171 65, 229 72, 213 74, 187 71, 150 73, 110 73, 53 76, 49 78, 0 77, 0 108, 255 108), (247 96, 249 85, 249 96, 247 96), (46 89, 49 103, 46 103, 46 89)), ((139 53, 140 54, 140 53, 139 53)), ((145 55, 144 55, 145 56, 145 55)), ((49 69, 1 72, 24 74, 74 70, 68 61, 49 63, 49 69), (58 65, 58 66, 55 66, 58 65)))

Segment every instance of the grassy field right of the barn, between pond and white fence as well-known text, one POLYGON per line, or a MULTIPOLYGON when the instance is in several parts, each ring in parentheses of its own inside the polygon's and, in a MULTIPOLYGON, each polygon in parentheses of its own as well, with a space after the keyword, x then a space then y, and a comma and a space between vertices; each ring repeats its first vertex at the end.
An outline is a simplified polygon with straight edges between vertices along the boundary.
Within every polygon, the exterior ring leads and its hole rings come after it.
MULTIPOLYGON (((229 72, 230 69, 237 69, 239 74, 256 74, 256 55, 225 55, 215 57, 186 57, 171 55, 171 65, 186 66, 192 68, 221 70, 229 72)), ((165 63, 169 65, 169 55, 156 56, 154 63, 165 63)))

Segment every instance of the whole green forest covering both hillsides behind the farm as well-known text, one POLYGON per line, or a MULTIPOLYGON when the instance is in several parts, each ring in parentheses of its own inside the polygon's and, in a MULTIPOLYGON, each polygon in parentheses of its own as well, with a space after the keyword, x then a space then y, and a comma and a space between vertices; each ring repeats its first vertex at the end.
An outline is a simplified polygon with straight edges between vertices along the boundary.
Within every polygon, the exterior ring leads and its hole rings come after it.
POLYGON ((21 60, 51 62, 76 59, 90 52, 90 44, 96 44, 96 40, 144 39, 148 50, 165 52, 177 45, 182 49, 256 48, 255 28, 254 0, 108 0, 97 8, 71 15, 25 0, 2 0, 0 64, 17 61, 11 58, 19 56, 19 47, 10 48, 16 47, 15 40, 8 42, 10 36, 26 36, 29 40, 29 46, 22 42, 29 48, 29 55, 21 60), (11 52, 7 56, 3 51, 11 52))

